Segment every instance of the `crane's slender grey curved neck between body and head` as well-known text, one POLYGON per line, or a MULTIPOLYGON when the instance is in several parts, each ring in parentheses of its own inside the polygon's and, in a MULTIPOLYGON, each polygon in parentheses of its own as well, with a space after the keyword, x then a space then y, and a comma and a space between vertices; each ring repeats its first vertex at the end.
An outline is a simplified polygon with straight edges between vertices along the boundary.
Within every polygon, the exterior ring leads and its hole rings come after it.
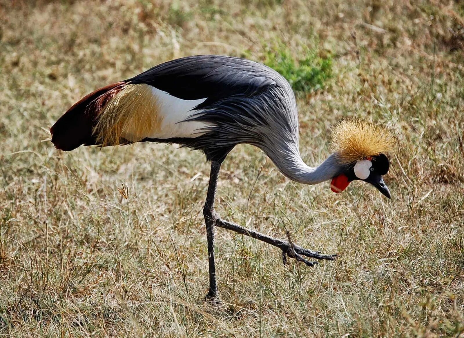
POLYGON ((332 179, 340 173, 341 168, 334 154, 330 155, 321 165, 313 168, 303 162, 297 144, 292 143, 263 149, 277 168, 289 179, 313 185, 332 179))

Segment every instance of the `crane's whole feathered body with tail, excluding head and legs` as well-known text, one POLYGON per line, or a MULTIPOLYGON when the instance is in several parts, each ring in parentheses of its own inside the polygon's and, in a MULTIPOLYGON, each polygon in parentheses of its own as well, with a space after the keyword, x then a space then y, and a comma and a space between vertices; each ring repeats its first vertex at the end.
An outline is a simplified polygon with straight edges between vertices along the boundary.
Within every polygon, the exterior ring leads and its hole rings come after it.
POLYGON ((301 168, 290 172, 292 166, 284 163, 301 159, 295 96, 284 77, 263 64, 216 55, 184 57, 108 86, 103 94, 100 90, 99 98, 89 94, 52 127, 58 148, 158 141, 200 149, 208 160, 219 160, 235 145, 248 143, 300 180, 301 168), (72 132, 76 126, 78 137, 72 132))

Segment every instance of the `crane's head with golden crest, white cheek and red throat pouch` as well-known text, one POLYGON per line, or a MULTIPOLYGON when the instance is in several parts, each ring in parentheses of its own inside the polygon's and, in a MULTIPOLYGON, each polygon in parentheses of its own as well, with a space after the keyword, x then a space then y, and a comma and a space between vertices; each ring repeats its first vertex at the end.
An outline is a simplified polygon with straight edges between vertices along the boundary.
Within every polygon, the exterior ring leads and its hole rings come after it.
POLYGON ((339 123, 332 131, 331 146, 340 172, 332 179, 331 190, 342 192, 350 182, 362 180, 391 198, 382 176, 390 167, 386 153, 394 145, 392 134, 385 128, 358 120, 339 123))

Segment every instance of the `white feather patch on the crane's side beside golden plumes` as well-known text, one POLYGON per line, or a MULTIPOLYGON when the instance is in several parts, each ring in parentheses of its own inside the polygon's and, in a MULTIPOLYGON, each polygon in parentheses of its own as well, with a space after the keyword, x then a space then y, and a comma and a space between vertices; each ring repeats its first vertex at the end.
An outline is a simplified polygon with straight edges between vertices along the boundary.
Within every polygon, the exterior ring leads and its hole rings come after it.
POLYGON ((158 102, 158 116, 162 119, 161 128, 154 131, 148 137, 154 139, 169 139, 171 137, 197 137, 205 134, 203 128, 211 126, 211 123, 201 121, 185 121, 190 116, 200 113, 202 110, 192 110, 207 97, 198 100, 183 100, 169 93, 152 87, 153 96, 158 102))

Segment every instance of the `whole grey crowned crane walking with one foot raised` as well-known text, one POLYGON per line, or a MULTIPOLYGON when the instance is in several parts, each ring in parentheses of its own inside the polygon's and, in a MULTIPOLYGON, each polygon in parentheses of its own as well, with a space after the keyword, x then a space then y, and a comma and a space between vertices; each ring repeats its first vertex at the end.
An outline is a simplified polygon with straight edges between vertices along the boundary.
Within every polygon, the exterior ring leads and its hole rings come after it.
POLYGON ((161 142, 200 150, 211 162, 203 207, 208 251, 206 298, 219 299, 214 253, 215 227, 269 243, 312 267, 336 255, 305 249, 219 217, 214 208, 221 164, 238 144, 261 149, 287 178, 315 185, 331 181, 344 191, 356 180, 387 198, 383 180, 394 147, 392 133, 363 120, 342 120, 332 130, 331 154, 308 166, 299 150, 298 110, 290 83, 277 71, 239 57, 194 55, 158 64, 141 74, 97 89, 69 108, 52 126, 52 143, 71 151, 84 146, 161 142))

